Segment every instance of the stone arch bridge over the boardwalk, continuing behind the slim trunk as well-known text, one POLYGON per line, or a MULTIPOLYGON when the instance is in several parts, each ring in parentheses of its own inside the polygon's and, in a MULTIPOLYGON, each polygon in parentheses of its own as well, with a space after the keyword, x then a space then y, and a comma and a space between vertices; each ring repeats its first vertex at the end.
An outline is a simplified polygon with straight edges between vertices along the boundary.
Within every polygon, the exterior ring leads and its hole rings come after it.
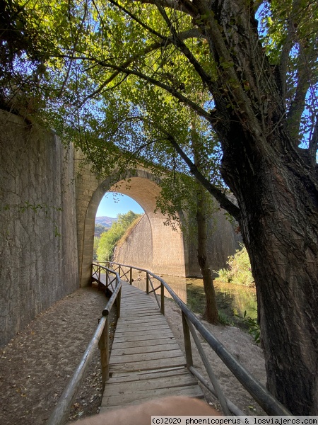
MULTIPOLYGON (((77 153, 80 157, 81 154, 77 153)), ((81 159, 81 158, 78 158, 81 159)), ((80 162, 80 161, 78 161, 80 162)), ((160 193, 158 179, 146 169, 126 171, 116 181, 110 176, 98 181, 90 166, 83 166, 76 173, 76 210, 78 229, 78 265, 81 286, 90 281, 93 258, 93 234, 95 215, 100 200, 107 192, 118 192, 136 200, 145 211, 141 222, 116 253, 116 261, 155 273, 172 276, 200 276, 196 261, 196 249, 182 235, 164 225, 165 217, 155 211, 155 199, 160 193), (126 183, 125 179, 129 179, 126 183)), ((217 212, 209 228, 208 246, 211 269, 225 267, 228 256, 237 248, 237 235, 225 219, 223 210, 217 212)))

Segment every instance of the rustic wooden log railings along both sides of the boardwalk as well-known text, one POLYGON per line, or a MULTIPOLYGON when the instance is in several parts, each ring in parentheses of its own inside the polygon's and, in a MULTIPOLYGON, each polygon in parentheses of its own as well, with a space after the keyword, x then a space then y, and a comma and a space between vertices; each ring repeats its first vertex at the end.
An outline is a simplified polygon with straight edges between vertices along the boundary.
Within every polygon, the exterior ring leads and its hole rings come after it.
POLYGON ((98 324, 98 327, 88 344, 83 357, 81 358, 80 363, 73 373, 69 384, 65 388, 63 394, 59 398, 54 411, 47 425, 64 425, 69 416, 69 411, 73 404, 76 394, 83 380, 83 376, 86 372, 86 368, 90 359, 93 356, 95 348, 100 349, 100 360, 102 363, 102 385, 105 386, 105 382, 109 379, 109 322, 108 315, 114 301, 117 301, 117 318, 120 317, 120 299, 121 299, 121 290, 122 290, 122 281, 126 280, 130 285, 133 283, 139 285, 142 283, 145 286, 146 293, 155 296, 155 300, 158 303, 160 312, 165 314, 165 296, 164 291, 167 290, 167 293, 170 294, 176 304, 182 310, 182 325, 184 333, 184 348, 187 361, 187 368, 192 372, 192 374, 215 396, 219 399, 223 412, 227 415, 235 414, 236 416, 245 416, 245 414, 238 409, 229 399, 223 395, 223 391, 220 388, 218 380, 216 379, 215 374, 213 373, 213 368, 206 358, 204 353, 204 348, 201 346, 199 338, 196 334, 194 328, 199 331, 199 334, 203 336, 205 341, 209 346, 216 352, 220 359, 228 366, 230 371, 235 375, 237 380, 242 384, 243 387, 249 392, 254 400, 264 409, 267 414, 277 415, 277 416, 291 416, 290 412, 275 399, 266 388, 261 385, 237 360, 232 356, 232 354, 223 346, 223 344, 216 339, 215 336, 211 334, 208 329, 202 324, 195 314, 189 310, 187 305, 184 304, 182 300, 175 294, 175 292, 170 288, 169 285, 160 278, 156 276, 151 271, 148 271, 144 268, 138 268, 134 266, 126 266, 120 263, 93 263, 92 265, 92 279, 97 281, 99 284, 105 286, 105 289, 110 289, 112 296, 107 302, 105 309, 102 311, 102 318, 98 324), (105 264, 104 266, 102 264, 105 264), (134 272, 137 273, 137 277, 134 278, 134 272), (141 278, 142 273, 144 275, 141 278), (105 282, 102 275, 105 275, 105 282), (158 281, 159 285, 155 287, 155 280, 158 281), (160 294, 157 294, 157 291, 160 290, 160 294), (201 359, 208 373, 208 382, 199 371, 194 368, 192 361, 192 341, 194 340, 196 347, 198 348, 201 359))

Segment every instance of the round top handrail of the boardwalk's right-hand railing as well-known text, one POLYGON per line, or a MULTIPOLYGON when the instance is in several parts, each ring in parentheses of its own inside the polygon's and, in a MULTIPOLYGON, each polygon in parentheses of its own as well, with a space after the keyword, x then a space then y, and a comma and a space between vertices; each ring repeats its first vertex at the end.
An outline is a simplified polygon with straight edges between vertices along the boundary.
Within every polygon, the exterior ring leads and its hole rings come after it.
MULTIPOLYGON (((112 266, 113 264, 115 266, 119 266, 119 271, 121 267, 128 267, 128 268, 131 268, 131 270, 134 269, 138 271, 143 271, 146 273, 147 283, 148 283, 148 276, 153 276, 153 278, 159 280, 160 287, 161 287, 161 294, 162 294, 160 310, 164 312, 163 288, 165 288, 167 292, 170 293, 172 299, 175 300, 176 304, 182 310, 182 313, 187 318, 187 320, 189 320, 189 322, 191 322, 194 325, 196 330, 199 331, 199 334, 203 336, 203 338, 206 340, 208 345, 211 346, 213 351, 216 352, 216 354, 220 357, 223 363, 225 363, 225 365, 230 369, 232 374, 235 375, 237 380, 242 384, 243 387, 245 387, 245 390, 247 390, 247 392, 249 392, 249 394, 252 395, 252 397, 259 404, 259 406, 261 406, 261 408, 264 409, 264 411, 270 415, 292 416, 292 414, 288 411, 288 409, 286 409, 285 406, 281 404, 281 402, 278 402, 278 400, 275 397, 273 397, 273 395, 271 395, 271 393, 268 390, 266 390, 266 388, 263 385, 261 385, 261 383, 258 380, 256 380, 251 375, 251 373, 249 373, 249 371, 246 370, 244 366, 242 366, 241 363, 239 363, 232 356, 232 354, 225 348, 225 346, 223 346, 223 344, 215 336, 213 336, 213 334, 211 334, 210 331, 208 331, 208 329, 204 326, 203 323, 200 322, 200 320, 196 317, 196 315, 191 310, 189 310, 187 305, 185 305, 184 302, 177 296, 177 294, 170 288, 170 286, 167 285, 165 280, 160 278, 160 276, 155 275, 155 273, 152 273, 151 271, 146 270, 146 268, 139 268, 135 266, 128 266, 126 264, 112 263, 112 262, 109 262, 108 264, 109 266, 112 266)), ((149 278, 149 280, 151 279, 149 278)), ((132 279, 130 279, 130 284, 132 284, 132 279)), ((152 283, 151 283, 151 286, 153 288, 152 283)), ((148 288, 146 292, 148 293, 148 288)), ((156 298, 156 300, 158 302, 158 298, 156 298)), ((159 302, 158 302, 158 305, 159 305, 159 302)), ((185 322, 187 322, 187 320, 185 322)), ((189 326, 189 325, 185 324, 185 326, 189 326)), ((184 333, 184 339, 186 342, 185 333, 184 333)), ((187 344, 185 345, 187 345, 186 357, 189 356, 189 358, 191 358, 191 361, 189 364, 187 361, 187 366, 192 371, 194 369, 193 365, 191 364, 192 354, 189 352, 187 353, 187 347, 188 347, 188 350, 191 350, 191 342, 189 338, 187 339, 187 344)))

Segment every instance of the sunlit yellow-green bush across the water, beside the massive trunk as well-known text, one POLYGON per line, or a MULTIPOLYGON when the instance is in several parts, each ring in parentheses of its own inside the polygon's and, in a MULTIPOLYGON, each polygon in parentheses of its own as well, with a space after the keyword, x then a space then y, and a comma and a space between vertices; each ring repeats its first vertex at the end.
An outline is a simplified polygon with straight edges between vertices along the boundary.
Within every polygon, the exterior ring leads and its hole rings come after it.
POLYGON ((254 284, 249 255, 244 244, 240 244, 240 249, 237 249, 234 255, 228 257, 227 264, 227 268, 214 271, 218 274, 216 280, 245 286, 252 286, 254 284))

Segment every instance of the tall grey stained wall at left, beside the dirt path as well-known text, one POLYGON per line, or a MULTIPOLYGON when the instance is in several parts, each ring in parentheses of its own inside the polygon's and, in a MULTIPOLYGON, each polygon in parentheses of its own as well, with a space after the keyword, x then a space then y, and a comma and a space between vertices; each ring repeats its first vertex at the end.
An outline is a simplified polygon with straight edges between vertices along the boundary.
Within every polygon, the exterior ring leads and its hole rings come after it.
POLYGON ((78 288, 73 149, 0 111, 0 346, 78 288))

